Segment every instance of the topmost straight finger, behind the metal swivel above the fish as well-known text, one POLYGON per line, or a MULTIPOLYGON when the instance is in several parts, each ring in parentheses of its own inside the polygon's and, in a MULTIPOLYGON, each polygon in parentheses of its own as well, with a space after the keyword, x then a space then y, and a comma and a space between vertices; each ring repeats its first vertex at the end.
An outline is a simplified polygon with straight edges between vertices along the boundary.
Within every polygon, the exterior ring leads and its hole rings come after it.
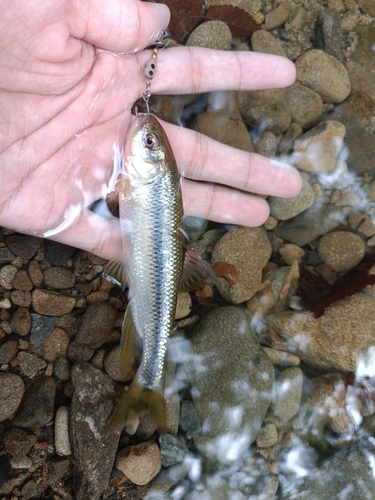
MULTIPOLYGON (((150 58, 138 54, 140 67, 150 58)), ((198 94, 212 90, 259 90, 291 85, 294 64, 285 57, 257 52, 229 52, 201 47, 172 47, 158 53, 152 91, 198 94)))

